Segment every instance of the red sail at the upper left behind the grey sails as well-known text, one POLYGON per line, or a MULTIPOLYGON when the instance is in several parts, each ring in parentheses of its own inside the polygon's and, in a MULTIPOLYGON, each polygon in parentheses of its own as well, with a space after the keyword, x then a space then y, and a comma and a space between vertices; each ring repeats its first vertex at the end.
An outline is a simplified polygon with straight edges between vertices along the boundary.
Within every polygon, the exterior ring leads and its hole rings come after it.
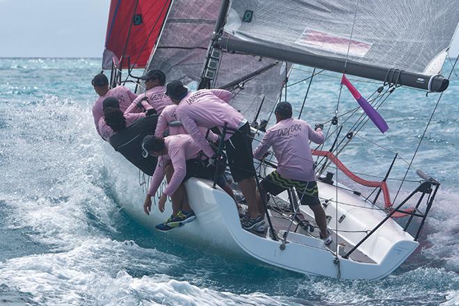
POLYGON ((111 0, 102 67, 143 68, 161 33, 171 0, 111 0))

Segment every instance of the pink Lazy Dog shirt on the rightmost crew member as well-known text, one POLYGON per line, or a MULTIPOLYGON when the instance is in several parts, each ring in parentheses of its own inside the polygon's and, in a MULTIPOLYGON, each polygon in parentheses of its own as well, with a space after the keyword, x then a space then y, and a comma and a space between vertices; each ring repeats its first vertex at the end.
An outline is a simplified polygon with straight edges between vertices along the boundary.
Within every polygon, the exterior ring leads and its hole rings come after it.
POLYGON ((320 145, 325 138, 321 130, 314 131, 303 120, 284 119, 266 130, 253 156, 261 159, 269 147, 273 146, 277 173, 287 179, 312 182, 316 180, 316 173, 309 140, 320 145))

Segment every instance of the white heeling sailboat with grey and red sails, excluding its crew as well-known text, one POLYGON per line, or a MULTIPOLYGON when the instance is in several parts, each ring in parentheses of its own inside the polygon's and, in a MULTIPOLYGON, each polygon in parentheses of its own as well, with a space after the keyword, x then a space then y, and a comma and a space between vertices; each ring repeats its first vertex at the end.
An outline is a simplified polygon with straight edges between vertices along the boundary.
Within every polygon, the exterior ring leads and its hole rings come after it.
MULTIPOLYGON (((446 90, 449 80, 440 72, 458 27, 459 4, 438 6, 436 1, 113 0, 103 63, 112 70, 113 86, 135 80, 134 68, 145 67, 161 69, 169 80, 181 79, 196 88, 232 91, 230 104, 253 119, 256 147, 264 135, 257 120, 272 113, 282 92, 287 95, 295 64, 380 81, 368 99, 376 109, 400 86, 426 92, 446 90), (117 15, 120 11, 124 18, 117 15), (146 12, 156 12, 148 25, 146 12), (139 46, 130 42, 136 27, 145 44, 140 44, 141 50, 129 51, 127 46, 139 46), (114 29, 120 34, 113 34, 114 29), (124 47, 115 50, 113 39, 124 47), (145 58, 138 55, 140 51, 150 52, 148 61, 140 63, 138 59, 145 58), (124 80, 122 68, 127 68, 124 80)), ((397 156, 387 175, 377 181, 348 170, 339 155, 352 145, 368 118, 360 115, 349 131, 343 131, 341 120, 346 117, 338 106, 339 99, 328 122, 330 149, 317 147, 312 152, 317 156, 319 198, 333 233, 332 244, 324 245, 312 211, 298 205, 291 190, 271 197, 266 207, 270 227, 255 233, 242 229, 234 200, 227 193, 213 182, 196 178, 185 186, 197 218, 168 232, 170 239, 309 275, 378 280, 392 273, 419 246, 440 183, 417 170, 419 186, 393 202, 386 181, 397 156), (338 182, 344 178, 372 192, 364 195, 355 186, 338 182), (378 207, 380 202, 383 207, 378 207), (403 224, 396 222, 400 217, 403 224)), ((170 203, 161 214, 156 197, 152 213, 145 215, 142 204, 148 178, 112 147, 105 148, 118 201, 132 218, 154 230, 171 214, 170 203)), ((259 177, 276 166, 273 157, 254 163, 259 177)), ((166 182, 159 195, 164 186, 166 182)))

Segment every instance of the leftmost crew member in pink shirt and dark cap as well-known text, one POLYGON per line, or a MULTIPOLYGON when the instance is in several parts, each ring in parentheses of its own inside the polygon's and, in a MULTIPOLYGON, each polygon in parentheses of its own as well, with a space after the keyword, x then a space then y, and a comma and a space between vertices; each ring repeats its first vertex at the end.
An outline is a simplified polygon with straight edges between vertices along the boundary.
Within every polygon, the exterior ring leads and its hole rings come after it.
POLYGON ((99 120, 104 116, 104 108, 102 106, 104 99, 107 97, 115 97, 118 99, 120 104, 120 110, 124 112, 136 99, 137 95, 124 86, 116 86, 115 88, 108 90, 108 79, 102 72, 96 74, 91 83, 95 92, 99 95, 99 99, 97 99, 95 104, 92 106, 92 117, 94 117, 94 124, 97 133, 102 136, 99 130, 99 120))

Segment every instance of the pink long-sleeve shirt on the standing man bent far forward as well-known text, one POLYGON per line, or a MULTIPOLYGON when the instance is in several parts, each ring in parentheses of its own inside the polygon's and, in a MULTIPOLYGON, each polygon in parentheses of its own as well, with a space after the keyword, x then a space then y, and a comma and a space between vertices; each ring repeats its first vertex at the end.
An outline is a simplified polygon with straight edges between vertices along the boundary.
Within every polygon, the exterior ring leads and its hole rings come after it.
MULTIPOLYGON (((202 89, 189 92, 177 107, 177 116, 185 129, 200 145, 202 151, 209 157, 214 155, 205 134, 199 127, 211 129, 218 127, 222 131, 223 126, 231 129, 239 129, 244 116, 236 111, 228 102, 231 99, 231 92, 221 89, 202 89)), ((225 140, 232 136, 227 131, 225 140)))

